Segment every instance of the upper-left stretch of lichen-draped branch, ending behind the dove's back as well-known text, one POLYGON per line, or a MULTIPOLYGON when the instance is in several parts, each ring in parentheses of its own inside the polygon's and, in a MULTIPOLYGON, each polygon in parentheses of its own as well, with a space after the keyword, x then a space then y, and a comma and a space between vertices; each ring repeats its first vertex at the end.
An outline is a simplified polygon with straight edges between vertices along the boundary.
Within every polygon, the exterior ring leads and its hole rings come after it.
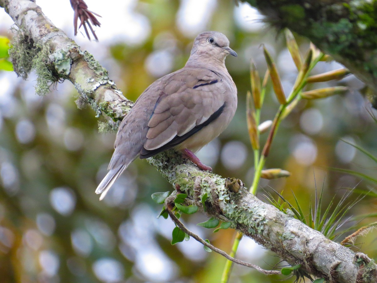
POLYGON ((34 67, 38 94, 48 91, 53 82, 70 80, 80 95, 76 101, 79 108, 89 103, 97 115, 105 114, 111 129, 116 130, 116 122, 123 119, 132 102, 116 88, 106 69, 54 26, 35 2, 0 0, 0 6, 19 28, 10 51, 17 74, 25 78, 34 67))

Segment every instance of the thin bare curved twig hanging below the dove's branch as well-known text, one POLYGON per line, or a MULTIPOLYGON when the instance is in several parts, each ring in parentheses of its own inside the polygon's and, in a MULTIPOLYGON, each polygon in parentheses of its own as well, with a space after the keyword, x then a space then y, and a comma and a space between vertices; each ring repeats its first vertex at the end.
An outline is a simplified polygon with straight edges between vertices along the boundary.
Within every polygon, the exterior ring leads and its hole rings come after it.
POLYGON ((246 267, 250 267, 250 268, 254 268, 256 269, 257 271, 263 273, 263 274, 266 274, 266 275, 273 275, 273 274, 281 274, 280 271, 277 271, 277 270, 265 270, 263 268, 260 268, 259 266, 257 265, 253 265, 252 263, 247 263, 245 261, 242 261, 242 260, 238 260, 234 257, 231 257, 230 255, 228 255, 226 252, 222 251, 221 249, 218 249, 214 246, 212 246, 211 244, 207 243, 206 241, 204 241, 201 237, 199 237, 198 235, 194 234, 193 232, 191 232, 189 229, 187 229, 183 223, 181 221, 179 221, 179 219, 174 215, 174 212, 171 211, 170 209, 167 209, 167 212, 169 213, 169 216, 170 218, 172 218, 173 222, 179 227, 179 229, 181 229, 183 232, 185 232, 187 235, 189 235, 190 237, 193 237, 195 240, 197 240, 199 243, 202 243, 204 246, 210 248, 212 251, 214 252, 217 252, 218 254, 222 255, 223 257, 225 257, 227 260, 230 260, 230 261, 233 261, 234 263, 237 263, 238 265, 243 265, 243 266, 246 266, 246 267))

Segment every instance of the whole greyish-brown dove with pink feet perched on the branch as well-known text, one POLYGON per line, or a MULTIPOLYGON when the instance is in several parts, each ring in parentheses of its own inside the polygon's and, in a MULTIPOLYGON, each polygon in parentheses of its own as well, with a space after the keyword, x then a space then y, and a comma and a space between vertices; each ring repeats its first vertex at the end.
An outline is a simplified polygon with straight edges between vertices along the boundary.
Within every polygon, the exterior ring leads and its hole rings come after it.
POLYGON ((96 189, 104 198, 115 180, 135 160, 170 148, 203 170, 195 152, 229 125, 237 108, 237 89, 225 57, 237 53, 224 34, 207 31, 194 41, 186 65, 156 80, 124 117, 115 139, 109 172, 96 189))

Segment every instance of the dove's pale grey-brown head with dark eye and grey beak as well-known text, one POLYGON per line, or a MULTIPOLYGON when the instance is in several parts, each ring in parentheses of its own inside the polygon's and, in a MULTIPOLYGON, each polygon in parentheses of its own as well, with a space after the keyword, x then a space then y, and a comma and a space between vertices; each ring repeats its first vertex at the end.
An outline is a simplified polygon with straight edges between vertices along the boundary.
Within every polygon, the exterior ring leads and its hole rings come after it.
POLYGON ((228 38, 221 32, 205 31, 195 38, 190 59, 208 58, 224 62, 228 54, 237 57, 237 53, 229 47, 228 38))

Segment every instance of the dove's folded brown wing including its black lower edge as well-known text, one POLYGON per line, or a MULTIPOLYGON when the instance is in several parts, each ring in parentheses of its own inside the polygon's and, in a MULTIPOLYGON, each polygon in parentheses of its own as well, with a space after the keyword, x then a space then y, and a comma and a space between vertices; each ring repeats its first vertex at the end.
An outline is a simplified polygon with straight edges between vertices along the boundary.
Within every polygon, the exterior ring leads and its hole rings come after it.
POLYGON ((161 89, 140 158, 173 148, 215 121, 226 107, 227 83, 204 68, 184 68, 161 89))

